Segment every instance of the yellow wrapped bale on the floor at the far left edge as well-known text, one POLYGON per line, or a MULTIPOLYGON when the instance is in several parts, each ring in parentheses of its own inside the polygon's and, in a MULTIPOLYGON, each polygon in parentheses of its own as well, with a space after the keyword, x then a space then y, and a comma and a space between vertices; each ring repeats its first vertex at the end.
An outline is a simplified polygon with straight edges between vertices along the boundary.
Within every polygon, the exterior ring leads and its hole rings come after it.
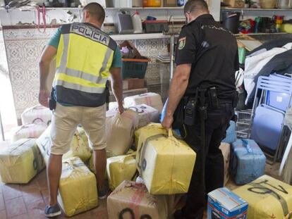
POLYGON ((0 176, 5 183, 28 183, 44 168, 35 139, 20 139, 0 150, 0 176))

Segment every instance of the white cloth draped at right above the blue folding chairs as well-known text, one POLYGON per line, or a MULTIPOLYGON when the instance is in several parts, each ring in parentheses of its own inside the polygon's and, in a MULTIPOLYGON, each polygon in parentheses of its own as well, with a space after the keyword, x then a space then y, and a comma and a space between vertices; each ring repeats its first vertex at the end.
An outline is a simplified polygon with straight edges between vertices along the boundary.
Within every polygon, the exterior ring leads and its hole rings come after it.
POLYGON ((260 73, 260 70, 271 61, 271 59, 281 53, 284 53, 285 51, 288 51, 289 49, 292 49, 292 43, 288 43, 285 46, 281 48, 274 48, 269 51, 264 51, 260 54, 257 54, 255 56, 249 56, 245 59, 245 72, 244 72, 244 85, 245 90, 248 93, 248 96, 246 97, 245 104, 248 104, 248 99, 250 98, 250 94, 253 92, 253 89, 255 88, 255 77, 258 73, 260 73))

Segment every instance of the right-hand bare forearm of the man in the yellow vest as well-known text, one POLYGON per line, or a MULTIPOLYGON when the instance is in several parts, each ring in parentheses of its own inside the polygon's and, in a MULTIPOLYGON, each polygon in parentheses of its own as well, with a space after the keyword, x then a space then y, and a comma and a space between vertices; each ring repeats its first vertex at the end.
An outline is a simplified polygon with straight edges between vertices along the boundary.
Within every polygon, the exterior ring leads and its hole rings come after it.
POLYGON ((114 92, 118 106, 123 106, 123 82, 121 80, 121 68, 111 68, 111 89, 114 92))

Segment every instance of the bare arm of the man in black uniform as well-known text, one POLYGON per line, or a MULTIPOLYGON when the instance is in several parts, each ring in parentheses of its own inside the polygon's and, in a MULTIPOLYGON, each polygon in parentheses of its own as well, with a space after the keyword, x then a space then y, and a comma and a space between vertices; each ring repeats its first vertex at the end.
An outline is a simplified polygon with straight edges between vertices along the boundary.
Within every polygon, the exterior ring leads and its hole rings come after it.
POLYGON ((185 94, 185 90, 188 87, 188 78, 190 77, 191 67, 191 64, 182 64, 176 67, 169 88, 169 103, 166 108, 166 116, 172 117, 174 115, 174 111, 176 110, 179 101, 181 101, 183 94, 185 94))

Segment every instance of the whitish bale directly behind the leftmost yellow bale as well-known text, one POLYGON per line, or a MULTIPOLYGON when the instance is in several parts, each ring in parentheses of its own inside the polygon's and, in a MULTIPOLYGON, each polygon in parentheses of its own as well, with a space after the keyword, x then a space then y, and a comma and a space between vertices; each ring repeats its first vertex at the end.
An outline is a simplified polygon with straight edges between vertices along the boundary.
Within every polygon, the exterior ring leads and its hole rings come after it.
POLYGON ((16 142, 19 139, 38 138, 46 129, 47 124, 42 122, 18 126, 11 131, 11 142, 16 142))

